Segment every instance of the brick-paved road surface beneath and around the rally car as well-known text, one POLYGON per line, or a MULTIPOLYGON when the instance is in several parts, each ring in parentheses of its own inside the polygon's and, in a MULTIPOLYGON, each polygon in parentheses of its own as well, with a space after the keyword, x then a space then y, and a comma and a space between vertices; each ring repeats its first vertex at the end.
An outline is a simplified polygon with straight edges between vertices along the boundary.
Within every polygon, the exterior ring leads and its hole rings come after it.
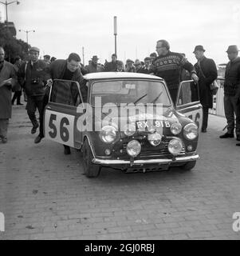
POLYGON ((239 239, 240 148, 220 140, 224 118, 210 116, 195 170, 86 178, 81 153, 34 135, 14 106, 9 142, 0 144, 2 239, 239 239))

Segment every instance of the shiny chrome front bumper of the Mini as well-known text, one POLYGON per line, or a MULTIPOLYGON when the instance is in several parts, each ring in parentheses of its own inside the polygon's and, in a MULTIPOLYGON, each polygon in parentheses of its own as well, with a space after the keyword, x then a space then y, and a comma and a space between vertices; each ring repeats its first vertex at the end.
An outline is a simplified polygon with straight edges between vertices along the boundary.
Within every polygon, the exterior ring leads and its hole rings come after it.
POLYGON ((127 166, 145 166, 145 165, 170 165, 181 162, 190 162, 199 159, 199 154, 185 156, 185 157, 177 157, 174 159, 148 159, 148 160, 111 160, 111 159, 99 159, 93 158, 92 163, 102 166, 118 166, 118 165, 127 165, 127 166))

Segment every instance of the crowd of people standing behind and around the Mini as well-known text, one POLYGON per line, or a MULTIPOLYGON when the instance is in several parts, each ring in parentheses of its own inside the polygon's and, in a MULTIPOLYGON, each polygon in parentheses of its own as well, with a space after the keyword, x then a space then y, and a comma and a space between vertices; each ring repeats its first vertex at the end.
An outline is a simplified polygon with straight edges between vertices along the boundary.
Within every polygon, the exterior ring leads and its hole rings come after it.
MULTIPOLYGON (((214 60, 205 56, 203 46, 195 46, 193 54, 197 62, 192 65, 187 61, 185 54, 171 52, 170 44, 166 40, 156 42, 156 53, 144 58, 132 61, 127 59, 126 63, 118 60, 116 54, 112 54, 111 62, 105 61, 104 65, 98 62, 96 55, 92 56, 89 64, 84 66, 78 54, 69 54, 67 59, 50 58, 45 55, 39 59, 40 50, 37 47, 30 49, 30 58, 22 62, 16 57, 14 65, 5 60, 5 51, 0 47, 0 138, 3 143, 7 142, 7 125, 11 118, 11 109, 17 100, 20 101, 22 90, 26 103, 27 114, 33 124, 32 134, 39 134, 34 142, 39 143, 43 134, 43 112, 49 98, 49 86, 54 79, 66 79, 77 81, 81 85, 81 93, 84 100, 87 97, 83 75, 95 72, 135 72, 143 74, 154 74, 165 80, 172 100, 175 102, 179 82, 183 80, 194 80, 199 84, 199 97, 203 106, 202 132, 207 132, 208 113, 213 107, 213 94, 211 84, 218 78, 217 67, 214 60), (12 98, 12 91, 14 97, 12 98), (36 110, 39 111, 39 123, 36 118, 36 110)), ((240 141, 240 58, 238 57, 238 46, 229 46, 226 50, 230 62, 226 66, 224 82, 224 108, 227 121, 227 132, 220 138, 236 138, 240 141), (234 118, 236 116, 236 119, 234 118), (236 127, 235 127, 236 124, 236 127)), ((240 146, 240 143, 236 144, 240 146)), ((65 146, 65 154, 70 154, 70 148, 65 146)))

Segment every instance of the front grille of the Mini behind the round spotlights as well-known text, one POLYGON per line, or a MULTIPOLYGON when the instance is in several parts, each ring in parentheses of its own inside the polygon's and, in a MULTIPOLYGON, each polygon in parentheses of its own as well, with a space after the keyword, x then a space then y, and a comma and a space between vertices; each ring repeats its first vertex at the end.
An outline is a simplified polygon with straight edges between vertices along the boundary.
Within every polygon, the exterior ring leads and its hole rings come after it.
MULTIPOLYGON (((163 141, 161 142, 161 144, 159 146, 151 146, 151 144, 148 142, 148 139, 143 139, 143 138, 135 138, 136 140, 138 140, 141 143, 142 146, 142 150, 140 152, 140 154, 136 157, 136 159, 143 159, 143 158, 172 158, 172 154, 169 153, 167 146, 168 143, 171 141, 172 138, 163 138, 163 141)), ((129 142, 129 140, 128 140, 129 142)), ((127 145, 128 142, 124 142, 122 144, 122 148, 123 148, 123 152, 121 154, 121 157, 123 156, 128 156, 127 153, 127 145)), ((181 151, 181 153, 179 155, 183 155, 185 154, 185 148, 183 146, 183 150, 181 151)), ((116 157, 120 157, 120 155, 116 156, 116 157)))

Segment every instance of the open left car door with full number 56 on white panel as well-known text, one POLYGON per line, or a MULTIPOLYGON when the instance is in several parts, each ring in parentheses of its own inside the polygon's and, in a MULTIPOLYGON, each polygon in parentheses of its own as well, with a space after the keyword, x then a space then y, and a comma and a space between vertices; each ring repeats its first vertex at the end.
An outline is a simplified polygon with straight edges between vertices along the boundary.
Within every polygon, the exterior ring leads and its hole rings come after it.
POLYGON ((45 107, 45 138, 74 148, 81 148, 82 134, 77 130, 79 106, 83 102, 78 82, 56 79, 45 107))

